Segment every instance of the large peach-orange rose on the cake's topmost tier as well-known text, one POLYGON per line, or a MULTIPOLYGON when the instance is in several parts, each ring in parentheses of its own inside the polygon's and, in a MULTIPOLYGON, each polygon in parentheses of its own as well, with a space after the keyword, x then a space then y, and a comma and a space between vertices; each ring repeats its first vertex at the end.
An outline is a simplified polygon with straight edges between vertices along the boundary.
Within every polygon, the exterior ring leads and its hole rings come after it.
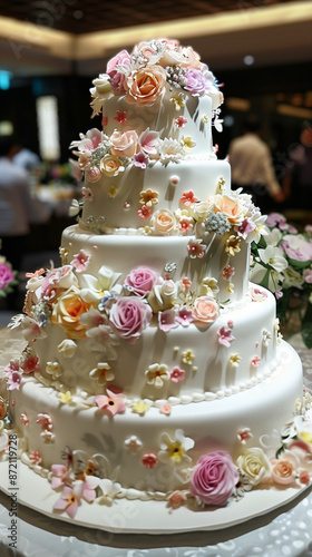
POLYGON ((166 71, 162 66, 147 66, 131 71, 125 80, 126 101, 144 106, 153 106, 165 92, 166 71))

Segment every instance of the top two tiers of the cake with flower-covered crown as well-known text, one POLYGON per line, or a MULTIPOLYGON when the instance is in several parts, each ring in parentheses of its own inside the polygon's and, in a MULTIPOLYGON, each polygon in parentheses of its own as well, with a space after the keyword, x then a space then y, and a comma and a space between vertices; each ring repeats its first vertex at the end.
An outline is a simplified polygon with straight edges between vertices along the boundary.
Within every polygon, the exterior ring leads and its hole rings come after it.
POLYGON ((81 227, 106 234, 148 227, 157 235, 155 213, 169 211, 179 233, 194 204, 221 184, 230 192, 230 165, 216 159, 212 144, 223 95, 191 47, 139 43, 113 58, 94 85, 92 116, 103 113, 103 130, 71 144, 85 172, 81 227))

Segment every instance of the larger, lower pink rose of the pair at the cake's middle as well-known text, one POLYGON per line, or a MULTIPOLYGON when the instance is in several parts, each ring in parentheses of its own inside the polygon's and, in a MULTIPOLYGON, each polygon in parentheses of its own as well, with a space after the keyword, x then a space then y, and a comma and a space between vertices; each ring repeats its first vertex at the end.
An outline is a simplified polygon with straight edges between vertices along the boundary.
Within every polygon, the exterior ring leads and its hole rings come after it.
POLYGON ((152 309, 140 297, 120 297, 110 309, 111 329, 129 342, 135 342, 140 336, 150 320, 152 309))

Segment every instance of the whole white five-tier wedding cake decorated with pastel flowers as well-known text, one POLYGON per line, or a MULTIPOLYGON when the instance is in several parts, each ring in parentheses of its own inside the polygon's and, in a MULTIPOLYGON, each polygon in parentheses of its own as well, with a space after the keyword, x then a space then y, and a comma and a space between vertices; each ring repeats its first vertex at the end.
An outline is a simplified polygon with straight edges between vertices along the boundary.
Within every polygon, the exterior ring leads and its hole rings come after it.
POLYGON ((72 519, 125 498, 209 512, 264 482, 309 483, 310 399, 274 297, 248 283, 265 217, 216 157, 214 76, 154 40, 94 86, 103 130, 71 146, 78 224, 14 320, 27 345, 4 368, 3 458, 13 431, 51 512, 72 519))

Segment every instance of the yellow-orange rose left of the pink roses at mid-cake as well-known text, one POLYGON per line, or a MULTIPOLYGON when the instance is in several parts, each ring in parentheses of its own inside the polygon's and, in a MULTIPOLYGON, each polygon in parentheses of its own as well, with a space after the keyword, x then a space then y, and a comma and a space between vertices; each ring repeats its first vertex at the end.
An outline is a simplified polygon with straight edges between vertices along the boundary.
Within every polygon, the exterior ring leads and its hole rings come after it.
POLYGON ((91 303, 81 299, 80 290, 71 286, 53 304, 51 322, 61 326, 69 339, 84 339, 86 325, 79 322, 79 317, 87 313, 90 306, 91 303))

